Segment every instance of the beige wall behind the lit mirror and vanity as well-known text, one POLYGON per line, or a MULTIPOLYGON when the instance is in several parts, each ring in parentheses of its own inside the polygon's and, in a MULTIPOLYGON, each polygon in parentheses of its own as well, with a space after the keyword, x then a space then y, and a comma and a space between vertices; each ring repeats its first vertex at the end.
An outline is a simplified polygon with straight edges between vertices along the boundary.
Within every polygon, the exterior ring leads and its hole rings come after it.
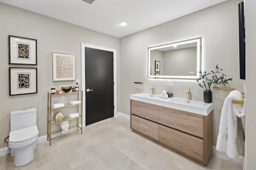
MULTIPOLYGON (((148 92, 154 84, 156 94, 162 90, 172 92, 175 97, 188 98, 186 92, 191 88, 192 99, 203 100, 203 89, 195 80, 173 80, 173 86, 167 86, 167 80, 147 79, 147 48, 202 37, 202 70, 214 70, 216 64, 233 81, 230 87, 243 91, 244 80, 239 78, 239 42, 238 42, 238 3, 241 0, 229 0, 221 4, 194 12, 176 20, 151 27, 144 31, 120 39, 120 112, 130 114, 130 94, 148 92), (129 70, 129 71, 127 71, 129 70), (138 88, 134 82, 144 82, 138 88)), ((218 136, 220 113, 226 91, 213 91, 214 103, 214 145, 218 136)))

